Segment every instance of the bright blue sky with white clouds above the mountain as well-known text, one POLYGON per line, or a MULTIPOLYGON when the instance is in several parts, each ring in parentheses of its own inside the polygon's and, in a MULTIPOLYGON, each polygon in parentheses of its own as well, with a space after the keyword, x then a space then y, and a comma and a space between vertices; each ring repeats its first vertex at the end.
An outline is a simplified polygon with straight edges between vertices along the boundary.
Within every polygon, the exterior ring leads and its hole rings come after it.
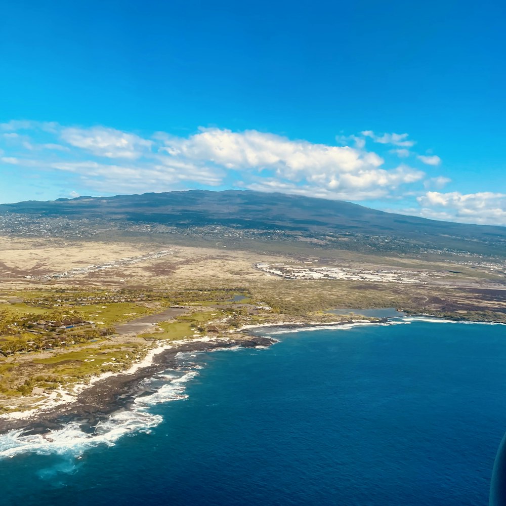
POLYGON ((257 189, 506 225, 500 2, 35 2, 0 20, 0 202, 257 189))

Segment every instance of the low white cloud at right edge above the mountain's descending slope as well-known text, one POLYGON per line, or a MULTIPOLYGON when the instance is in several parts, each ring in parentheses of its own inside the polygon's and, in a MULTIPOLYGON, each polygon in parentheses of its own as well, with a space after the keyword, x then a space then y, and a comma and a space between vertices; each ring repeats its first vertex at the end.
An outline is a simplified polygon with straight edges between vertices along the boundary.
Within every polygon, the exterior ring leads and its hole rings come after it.
POLYGON ((427 192, 417 198, 420 215, 437 220, 506 225, 506 194, 427 192))

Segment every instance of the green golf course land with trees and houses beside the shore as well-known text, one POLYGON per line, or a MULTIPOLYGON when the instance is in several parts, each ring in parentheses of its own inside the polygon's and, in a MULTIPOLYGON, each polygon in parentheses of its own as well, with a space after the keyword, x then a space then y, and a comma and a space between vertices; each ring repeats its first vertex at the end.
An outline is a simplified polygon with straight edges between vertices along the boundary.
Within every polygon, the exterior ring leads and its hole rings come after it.
MULTIPOLYGON (((237 301, 250 299, 248 293, 233 289, 150 291, 137 302, 112 303, 103 291, 10 292, 4 297, 12 301, 4 302, 0 312, 0 410, 6 412, 44 400, 40 392, 71 389, 97 374, 126 370, 146 355, 153 342, 204 336, 208 329, 218 331, 209 326, 213 322, 226 330, 227 319, 237 327, 240 315, 249 314, 237 301), (158 322, 152 332, 118 335, 111 326, 180 304, 185 305, 185 314, 158 322), (49 309, 50 305, 56 307, 49 309), (92 317, 95 321, 87 319, 92 317), (17 398, 22 402, 14 402, 17 398)), ((255 306, 248 307, 256 311, 255 306)))

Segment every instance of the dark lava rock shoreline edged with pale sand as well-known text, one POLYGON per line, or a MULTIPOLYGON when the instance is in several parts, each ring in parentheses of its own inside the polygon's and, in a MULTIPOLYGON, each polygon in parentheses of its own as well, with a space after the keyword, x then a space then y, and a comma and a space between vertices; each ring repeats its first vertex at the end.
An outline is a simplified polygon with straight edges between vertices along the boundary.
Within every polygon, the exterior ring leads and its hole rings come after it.
MULTIPOLYGON (((120 372, 105 372, 94 376, 87 384, 75 385, 73 393, 57 389, 50 394, 45 404, 38 408, 11 412, 0 415, 0 435, 11 431, 20 431, 23 435, 39 434, 46 439, 51 431, 62 429, 70 422, 78 421, 80 427, 87 432, 93 432, 97 424, 112 413, 128 410, 135 403, 135 399, 149 393, 140 387, 140 383, 147 378, 156 376, 167 369, 176 369, 176 356, 184 352, 209 352, 230 348, 267 348, 276 343, 276 339, 266 335, 254 333, 260 329, 279 329, 272 334, 290 333, 293 331, 307 331, 331 329, 339 327, 361 325, 394 325, 397 319, 428 321, 434 323, 467 323, 505 325, 500 322, 483 322, 457 320, 432 315, 405 314, 395 317, 372 319, 350 319, 332 322, 275 322, 255 325, 243 325, 229 330, 230 338, 204 337, 195 340, 171 341, 151 348, 147 355, 133 364, 129 369, 120 372), (57 399, 57 395, 61 398, 57 399), (51 398, 53 396, 53 398, 51 398)), ((402 322, 399 322, 402 323, 402 322)), ((405 323, 410 323, 407 321, 405 323)))

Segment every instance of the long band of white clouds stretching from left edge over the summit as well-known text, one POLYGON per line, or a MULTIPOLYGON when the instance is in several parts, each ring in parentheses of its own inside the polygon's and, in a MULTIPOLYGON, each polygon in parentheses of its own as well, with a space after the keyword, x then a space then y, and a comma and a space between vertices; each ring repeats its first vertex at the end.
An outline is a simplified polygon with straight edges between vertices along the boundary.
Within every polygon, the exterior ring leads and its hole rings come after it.
MULTIPOLYGON (((220 128, 200 128, 188 136, 140 136, 106 126, 11 121, 0 125, 0 131, 16 134, 11 136, 16 142, 4 142, 4 163, 59 173, 69 186, 78 184, 90 193, 241 187, 360 201, 419 194, 424 184, 441 189, 445 179, 424 182, 426 174, 419 167, 392 165, 366 149, 365 140, 371 138, 380 151, 383 144, 384 151, 392 148, 406 158, 415 154, 408 149, 414 141, 407 134, 364 131, 337 136, 336 145, 330 145, 220 128)), ((411 160, 421 166, 422 160, 411 160)))

